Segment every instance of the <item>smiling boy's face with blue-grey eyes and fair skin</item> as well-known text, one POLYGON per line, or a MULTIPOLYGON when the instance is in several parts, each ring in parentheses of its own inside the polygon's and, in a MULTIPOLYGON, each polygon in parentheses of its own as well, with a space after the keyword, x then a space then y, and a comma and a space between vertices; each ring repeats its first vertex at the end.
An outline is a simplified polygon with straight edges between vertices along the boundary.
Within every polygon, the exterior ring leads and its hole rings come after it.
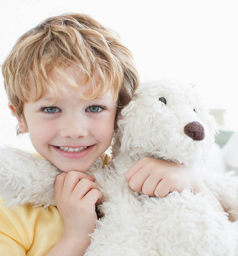
MULTIPOLYGON (((69 67, 69 75, 80 82, 79 72, 69 67)), ((54 69, 50 75, 57 80, 54 69)), ((59 79, 58 79, 58 82, 59 79)), ((64 86, 69 86, 64 83, 64 86)), ((92 89, 91 81, 81 87, 83 95, 92 89)), ((33 146, 60 170, 86 171, 110 146, 117 107, 111 92, 97 100, 83 100, 75 90, 61 94, 50 104, 50 93, 36 102, 24 104, 24 116, 33 146)), ((24 124, 19 119, 19 129, 24 124)))

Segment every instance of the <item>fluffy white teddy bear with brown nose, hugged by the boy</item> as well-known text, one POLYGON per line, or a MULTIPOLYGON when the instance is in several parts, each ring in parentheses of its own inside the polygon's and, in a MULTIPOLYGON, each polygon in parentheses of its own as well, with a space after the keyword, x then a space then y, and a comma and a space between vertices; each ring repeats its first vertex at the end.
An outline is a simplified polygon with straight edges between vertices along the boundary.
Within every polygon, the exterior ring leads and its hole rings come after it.
MULTIPOLYGON (((97 160, 87 171, 103 194, 102 215, 87 256, 238 255, 238 178, 215 174, 201 164, 214 144, 216 124, 194 89, 164 81, 140 85, 117 118, 110 166, 97 160), (164 198, 129 188, 125 172, 145 156, 197 166, 204 183, 223 205, 218 212, 190 188, 164 198)), ((47 160, 0 150, 0 196, 7 206, 55 205, 59 170, 47 160), (24 188, 24 189, 22 189, 24 188)))

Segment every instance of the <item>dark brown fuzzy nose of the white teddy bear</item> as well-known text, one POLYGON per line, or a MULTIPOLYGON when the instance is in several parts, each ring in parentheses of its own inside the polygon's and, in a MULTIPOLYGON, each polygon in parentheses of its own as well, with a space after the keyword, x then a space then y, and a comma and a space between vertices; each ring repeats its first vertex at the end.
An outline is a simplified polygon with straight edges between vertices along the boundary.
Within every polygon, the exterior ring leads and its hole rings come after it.
POLYGON ((184 126, 184 133, 193 140, 203 140, 205 131, 199 122, 191 122, 184 126))

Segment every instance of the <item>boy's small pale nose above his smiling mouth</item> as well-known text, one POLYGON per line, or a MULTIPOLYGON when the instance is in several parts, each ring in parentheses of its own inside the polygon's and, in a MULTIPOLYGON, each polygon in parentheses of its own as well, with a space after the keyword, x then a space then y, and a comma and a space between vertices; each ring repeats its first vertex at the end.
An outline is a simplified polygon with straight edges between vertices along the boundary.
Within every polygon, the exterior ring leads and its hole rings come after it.
POLYGON ((78 137, 87 137, 88 129, 86 121, 79 120, 73 117, 64 121, 61 128, 62 137, 71 137, 77 139, 78 137))

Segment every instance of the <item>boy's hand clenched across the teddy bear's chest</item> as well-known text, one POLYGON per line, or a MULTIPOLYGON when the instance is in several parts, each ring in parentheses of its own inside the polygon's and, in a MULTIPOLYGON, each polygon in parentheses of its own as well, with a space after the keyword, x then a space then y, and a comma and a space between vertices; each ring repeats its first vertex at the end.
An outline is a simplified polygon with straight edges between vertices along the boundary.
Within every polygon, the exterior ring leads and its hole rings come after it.
MULTIPOLYGON (((145 195, 165 197, 169 192, 199 186, 202 181, 190 168, 173 162, 143 158, 125 174, 129 187, 145 195)), ((194 190, 195 191, 195 190, 194 190)))

